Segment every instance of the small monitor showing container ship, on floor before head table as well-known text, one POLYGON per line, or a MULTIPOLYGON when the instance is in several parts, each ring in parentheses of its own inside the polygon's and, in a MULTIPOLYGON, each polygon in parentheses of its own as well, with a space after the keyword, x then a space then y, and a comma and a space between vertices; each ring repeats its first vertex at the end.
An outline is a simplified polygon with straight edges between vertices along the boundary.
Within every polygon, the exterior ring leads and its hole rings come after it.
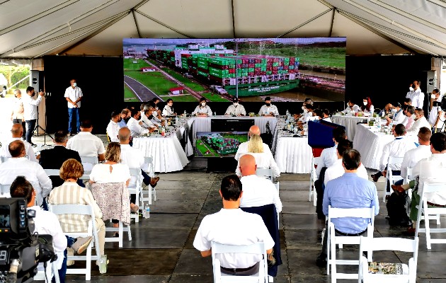
POLYGON ((248 141, 248 132, 197 132, 195 156, 235 156, 245 141, 248 141))

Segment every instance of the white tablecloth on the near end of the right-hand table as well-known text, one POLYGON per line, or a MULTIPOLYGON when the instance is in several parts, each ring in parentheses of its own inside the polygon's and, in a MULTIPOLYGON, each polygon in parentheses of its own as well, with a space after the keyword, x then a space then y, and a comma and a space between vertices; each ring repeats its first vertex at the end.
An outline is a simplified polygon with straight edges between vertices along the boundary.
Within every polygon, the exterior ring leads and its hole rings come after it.
MULTIPOLYGON (((374 129, 373 127, 373 130, 374 129)), ((379 161, 382 156, 382 149, 395 137, 393 134, 372 132, 372 129, 365 124, 356 125, 353 149, 361 154, 361 162, 366 168, 379 169, 379 161)))

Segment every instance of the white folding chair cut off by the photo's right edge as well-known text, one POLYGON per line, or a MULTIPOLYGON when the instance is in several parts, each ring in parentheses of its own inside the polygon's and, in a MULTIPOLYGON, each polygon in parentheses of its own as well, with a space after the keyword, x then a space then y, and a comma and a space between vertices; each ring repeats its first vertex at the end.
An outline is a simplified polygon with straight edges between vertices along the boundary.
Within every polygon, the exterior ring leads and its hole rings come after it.
POLYGON ((428 200, 425 197, 426 193, 435 193, 438 191, 444 192, 446 190, 446 183, 424 183, 423 194, 418 204, 418 216, 416 219, 415 236, 418 233, 426 233, 426 246, 430 250, 433 243, 446 243, 446 238, 430 238, 430 233, 446 233, 446 228, 430 228, 429 220, 437 219, 437 225, 440 225, 439 215, 446 215, 445 207, 428 207, 428 200), (424 216, 423 216, 424 215, 424 216), (425 228, 420 227, 421 218, 423 217, 425 228))

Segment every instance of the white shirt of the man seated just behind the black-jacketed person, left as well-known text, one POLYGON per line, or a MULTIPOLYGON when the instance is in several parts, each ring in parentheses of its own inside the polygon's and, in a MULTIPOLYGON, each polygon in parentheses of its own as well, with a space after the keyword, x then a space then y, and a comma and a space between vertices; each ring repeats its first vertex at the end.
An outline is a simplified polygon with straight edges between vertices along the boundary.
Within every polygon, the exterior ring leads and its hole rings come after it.
POLYGON ((91 132, 79 132, 67 142, 67 149, 79 152, 79 156, 98 156, 105 154, 104 144, 91 132))

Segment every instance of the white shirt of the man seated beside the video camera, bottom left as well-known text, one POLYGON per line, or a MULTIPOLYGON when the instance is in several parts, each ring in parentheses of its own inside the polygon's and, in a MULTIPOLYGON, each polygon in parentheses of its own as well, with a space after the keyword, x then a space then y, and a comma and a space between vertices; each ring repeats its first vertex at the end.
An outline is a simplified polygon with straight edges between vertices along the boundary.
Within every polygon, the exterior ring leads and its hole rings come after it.
MULTIPOLYGON (((62 262, 64 261, 64 250, 67 249, 67 237, 59 224, 57 215, 52 212, 47 212, 40 207, 28 207, 35 211, 34 217, 34 231, 39 235, 51 235, 52 247, 55 249, 57 255, 56 265, 57 268, 62 268, 62 262)), ((39 265, 43 266, 43 263, 39 265)), ((40 267, 39 267, 40 269, 40 267)))

